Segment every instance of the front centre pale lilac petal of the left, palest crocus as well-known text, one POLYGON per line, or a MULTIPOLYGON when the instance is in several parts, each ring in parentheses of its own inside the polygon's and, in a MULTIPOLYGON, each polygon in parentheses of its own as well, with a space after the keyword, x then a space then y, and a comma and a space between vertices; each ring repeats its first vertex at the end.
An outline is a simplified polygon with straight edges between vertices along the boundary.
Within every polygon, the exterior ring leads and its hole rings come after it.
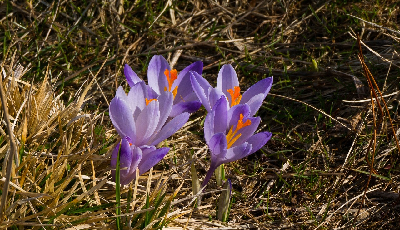
POLYGON ((160 119, 158 101, 151 101, 136 119, 136 145, 144 145, 154 134, 160 119))

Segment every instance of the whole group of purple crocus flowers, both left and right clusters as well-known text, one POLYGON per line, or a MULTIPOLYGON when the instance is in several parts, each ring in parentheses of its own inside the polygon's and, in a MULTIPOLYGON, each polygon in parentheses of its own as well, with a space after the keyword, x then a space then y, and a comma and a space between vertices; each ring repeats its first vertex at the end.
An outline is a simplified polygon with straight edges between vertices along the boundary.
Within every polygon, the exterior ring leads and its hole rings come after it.
MULTIPOLYGON (((210 169, 205 186, 213 172, 222 164, 236 161, 258 151, 272 133, 255 133, 260 117, 258 111, 271 85, 272 77, 263 79, 240 93, 239 81, 231 65, 224 65, 212 87, 202 74, 203 63, 192 63, 180 73, 171 69, 162 56, 154 56, 148 67, 148 85, 125 65, 124 73, 130 91, 122 87, 110 103, 110 118, 121 137, 112 153, 115 168, 120 155, 120 182, 128 184, 136 176, 156 165, 169 148, 156 148, 180 129, 189 114, 201 104, 208 111, 204 138, 210 149, 210 169)), ((112 170, 115 176, 115 170, 112 170)))

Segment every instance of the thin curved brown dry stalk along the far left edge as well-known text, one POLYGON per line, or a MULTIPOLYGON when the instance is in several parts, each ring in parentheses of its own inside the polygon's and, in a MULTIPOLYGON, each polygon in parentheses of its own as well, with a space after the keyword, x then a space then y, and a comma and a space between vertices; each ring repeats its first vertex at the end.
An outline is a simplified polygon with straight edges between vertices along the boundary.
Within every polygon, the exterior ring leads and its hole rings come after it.
MULTIPOLYGON (((18 31, 18 29, 17 29, 17 31, 18 31)), ((10 42, 10 45, 8 46, 8 49, 7 49, 6 55, 4 56, 3 64, 2 64, 0 70, 2 70, 4 68, 4 63, 6 63, 6 58, 8 56, 8 52, 10 52, 10 48, 11 48, 12 42, 14 41, 14 38, 17 34, 17 31, 15 32, 15 34, 12 37, 12 40, 10 42)), ((11 70, 9 73, 11 73, 11 70)), ((6 77, 7 76, 4 76, 4 79, 6 77)), ((2 77, 0 77, 0 99, 1 99, 1 104, 3 107, 3 114, 5 117, 4 121, 7 124, 7 131, 8 131, 9 141, 10 141, 10 152, 8 154, 8 159, 6 161, 4 161, 4 165, 3 165, 3 166, 7 165, 6 166, 7 170, 6 170, 6 175, 5 175, 6 180, 4 181, 3 193, 1 196, 1 203, 0 203, 0 225, 1 225, 3 222, 3 216, 4 216, 3 211, 4 211, 4 207, 6 205, 6 200, 7 200, 7 196, 8 196, 8 187, 9 187, 10 178, 11 178, 12 159, 14 158, 14 154, 16 153, 16 146, 15 146, 15 142, 14 142, 14 133, 12 133, 11 122, 8 119, 8 109, 7 109, 8 107, 7 107, 6 96, 5 96, 4 90, 3 90, 2 77)))

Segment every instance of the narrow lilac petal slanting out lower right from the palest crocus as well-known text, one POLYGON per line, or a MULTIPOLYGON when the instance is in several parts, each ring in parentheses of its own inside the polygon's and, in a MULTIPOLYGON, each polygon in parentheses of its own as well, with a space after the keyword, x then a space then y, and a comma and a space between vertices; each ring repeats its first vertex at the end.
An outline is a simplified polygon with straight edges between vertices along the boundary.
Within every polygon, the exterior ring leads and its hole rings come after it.
POLYGON ((178 129, 180 129, 189 119, 189 113, 181 113, 169 121, 158 133, 155 133, 152 138, 148 141, 148 145, 158 145, 161 141, 164 141, 178 129))

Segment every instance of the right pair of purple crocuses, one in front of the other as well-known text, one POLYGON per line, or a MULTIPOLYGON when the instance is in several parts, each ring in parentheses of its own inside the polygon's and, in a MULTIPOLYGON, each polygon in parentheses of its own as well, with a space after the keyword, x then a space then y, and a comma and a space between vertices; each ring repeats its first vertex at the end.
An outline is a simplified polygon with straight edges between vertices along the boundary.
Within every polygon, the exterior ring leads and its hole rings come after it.
MULTIPOLYGON (((204 77, 191 71, 194 92, 209 112, 204 122, 204 139, 210 149, 211 165, 203 181, 205 186, 220 165, 236 161, 258 151, 272 133, 254 134, 260 117, 253 117, 272 86, 272 77, 258 81, 240 93, 238 76, 232 65, 224 65, 212 87, 204 77)), ((218 183, 218 182, 217 182, 218 183)))

